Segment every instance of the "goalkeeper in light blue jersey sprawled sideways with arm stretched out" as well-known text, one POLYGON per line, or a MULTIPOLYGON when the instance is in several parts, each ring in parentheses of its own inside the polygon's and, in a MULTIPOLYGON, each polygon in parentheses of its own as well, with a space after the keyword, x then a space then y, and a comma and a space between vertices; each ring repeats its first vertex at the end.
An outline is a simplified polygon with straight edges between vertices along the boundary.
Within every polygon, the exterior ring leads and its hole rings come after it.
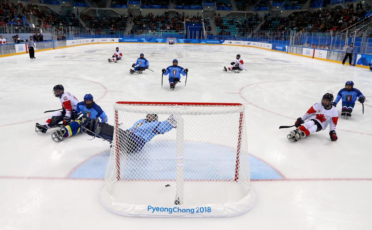
MULTIPOLYGON (((117 137, 120 138, 120 142, 123 143, 123 149, 121 150, 128 154, 141 151, 144 145, 151 141, 156 135, 164 134, 175 128, 177 126, 177 119, 178 116, 170 115, 167 120, 158 121, 157 114, 147 114, 146 119, 136 121, 129 129, 124 130, 119 126, 117 137)), ((81 126, 83 126, 82 132, 86 134, 104 138, 107 141, 112 141, 113 139, 114 127, 99 122, 99 119, 83 119, 81 126)), ((57 134, 54 140, 56 142, 62 141, 64 139, 62 133, 59 132, 57 134)))

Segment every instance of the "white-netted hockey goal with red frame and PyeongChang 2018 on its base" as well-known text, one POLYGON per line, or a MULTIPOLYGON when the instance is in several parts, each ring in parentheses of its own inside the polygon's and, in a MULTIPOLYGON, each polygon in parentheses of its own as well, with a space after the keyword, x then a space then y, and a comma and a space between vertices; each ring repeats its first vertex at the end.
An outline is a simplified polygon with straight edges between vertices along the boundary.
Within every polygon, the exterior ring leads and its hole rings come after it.
POLYGON ((253 206, 244 105, 116 102, 114 111, 100 195, 110 211, 218 217, 253 206))

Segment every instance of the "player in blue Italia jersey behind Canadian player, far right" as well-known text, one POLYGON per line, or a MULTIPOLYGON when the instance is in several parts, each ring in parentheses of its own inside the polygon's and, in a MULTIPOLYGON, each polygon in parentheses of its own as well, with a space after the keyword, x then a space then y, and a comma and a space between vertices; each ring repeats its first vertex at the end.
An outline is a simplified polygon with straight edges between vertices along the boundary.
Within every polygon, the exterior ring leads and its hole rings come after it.
POLYGON ((332 105, 336 107, 337 103, 342 99, 341 116, 351 116, 357 97, 359 98, 358 101, 360 103, 364 103, 366 100, 365 96, 363 96, 359 89, 355 89, 353 86, 354 82, 347 81, 345 83, 345 88, 341 89, 339 93, 337 93, 336 100, 332 103, 332 105))

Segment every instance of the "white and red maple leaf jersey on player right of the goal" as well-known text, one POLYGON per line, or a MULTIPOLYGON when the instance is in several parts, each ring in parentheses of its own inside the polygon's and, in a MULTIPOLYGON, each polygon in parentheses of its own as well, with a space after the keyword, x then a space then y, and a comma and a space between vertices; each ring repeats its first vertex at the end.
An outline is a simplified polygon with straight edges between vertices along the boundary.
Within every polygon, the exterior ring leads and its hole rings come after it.
POLYGON ((339 114, 334 106, 330 109, 325 109, 321 103, 316 103, 310 107, 304 116, 301 117, 303 121, 314 119, 319 122, 322 126, 322 130, 327 128, 329 124, 329 130, 335 130, 339 114))

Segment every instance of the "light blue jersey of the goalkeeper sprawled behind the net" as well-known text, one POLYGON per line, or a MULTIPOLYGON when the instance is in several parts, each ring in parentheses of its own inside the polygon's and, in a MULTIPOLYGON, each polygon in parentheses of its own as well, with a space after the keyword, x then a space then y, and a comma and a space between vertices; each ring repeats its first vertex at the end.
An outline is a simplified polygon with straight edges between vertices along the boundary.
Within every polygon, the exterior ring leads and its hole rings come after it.
POLYGON ((147 122, 146 119, 141 119, 135 122, 132 128, 129 128, 126 131, 144 139, 146 143, 156 135, 164 134, 171 129, 173 129, 173 126, 168 121, 147 122))

